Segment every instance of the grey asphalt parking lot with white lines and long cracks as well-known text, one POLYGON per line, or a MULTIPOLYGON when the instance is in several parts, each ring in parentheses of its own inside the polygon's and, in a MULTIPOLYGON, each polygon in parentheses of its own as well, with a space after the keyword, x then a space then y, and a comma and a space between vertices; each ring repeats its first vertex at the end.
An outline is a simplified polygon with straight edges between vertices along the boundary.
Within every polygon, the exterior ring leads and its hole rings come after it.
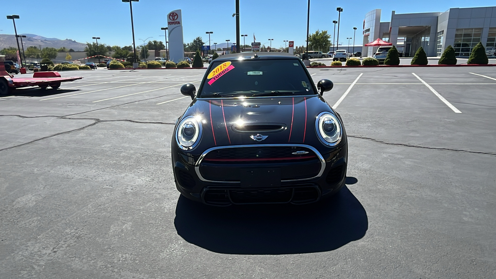
POLYGON ((496 278, 495 68, 309 71, 335 83, 349 178, 300 207, 180 197, 179 89, 205 70, 0 98, 0 278, 496 278))

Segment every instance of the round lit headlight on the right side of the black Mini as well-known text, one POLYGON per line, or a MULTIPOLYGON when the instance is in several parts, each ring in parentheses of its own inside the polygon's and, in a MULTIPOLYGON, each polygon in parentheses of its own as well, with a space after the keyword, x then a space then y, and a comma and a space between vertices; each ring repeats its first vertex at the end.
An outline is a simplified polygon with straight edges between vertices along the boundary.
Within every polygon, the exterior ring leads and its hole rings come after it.
POLYGON ((337 145, 343 134, 338 118, 328 112, 323 112, 317 116, 315 130, 319 139, 330 146, 337 145))

